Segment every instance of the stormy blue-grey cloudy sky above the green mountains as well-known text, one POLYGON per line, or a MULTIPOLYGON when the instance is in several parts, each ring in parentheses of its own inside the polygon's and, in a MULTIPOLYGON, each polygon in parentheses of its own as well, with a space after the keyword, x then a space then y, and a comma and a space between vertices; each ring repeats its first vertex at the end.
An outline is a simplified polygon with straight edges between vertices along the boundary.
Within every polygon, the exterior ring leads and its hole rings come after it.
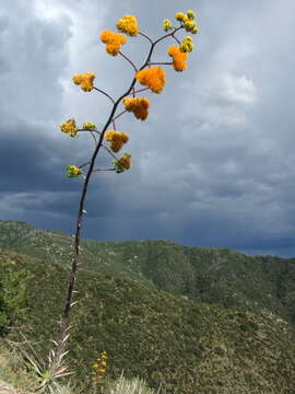
MULTIPOLYGON (((64 166, 87 161, 94 146, 59 124, 103 128, 111 106, 72 76, 92 71, 95 86, 119 97, 133 70, 106 54, 101 32, 134 14, 155 39, 163 19, 189 9, 200 34, 188 69, 166 66, 164 91, 143 93, 152 103, 145 121, 118 119, 133 166, 92 178, 83 236, 295 256, 294 0, 2 1, 1 220, 73 232, 83 179, 67 178, 64 166)), ((163 42, 153 60, 168 61, 174 43, 163 42)), ((122 47, 138 67, 148 50, 142 37, 122 47)), ((102 152, 97 167, 110 164, 102 152)))

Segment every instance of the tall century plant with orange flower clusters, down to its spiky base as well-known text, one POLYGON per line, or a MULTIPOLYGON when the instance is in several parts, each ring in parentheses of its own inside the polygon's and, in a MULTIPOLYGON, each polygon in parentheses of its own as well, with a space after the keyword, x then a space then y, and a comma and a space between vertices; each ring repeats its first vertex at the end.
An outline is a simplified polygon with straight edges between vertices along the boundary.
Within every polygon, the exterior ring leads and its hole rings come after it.
MULTIPOLYGON (((76 271, 80 259, 80 240, 83 217, 86 213, 85 201, 87 195, 87 187, 93 175, 103 171, 121 174, 130 170, 132 166, 131 154, 128 152, 120 153, 122 148, 128 143, 130 137, 128 132, 117 130, 118 119, 126 113, 132 113, 135 119, 145 120, 149 117, 150 107, 152 107, 152 100, 145 96, 138 96, 139 93, 145 91, 146 93, 161 93, 167 82, 164 66, 172 67, 175 71, 184 71, 187 68, 187 60, 189 53, 193 49, 192 37, 187 33, 198 33, 198 25, 194 21, 196 13, 192 10, 178 12, 175 14, 175 21, 168 19, 163 21, 163 30, 165 34, 152 39, 149 35, 143 33, 138 24, 134 15, 123 15, 116 23, 117 31, 105 30, 99 35, 99 40, 105 44, 105 49, 108 55, 115 57, 120 56, 129 62, 133 69, 133 79, 129 88, 122 92, 117 99, 110 96, 107 92, 99 88, 99 78, 91 71, 85 71, 73 76, 73 83, 81 88, 82 91, 88 93, 101 93, 110 102, 110 111, 105 125, 98 128, 95 121, 85 120, 79 127, 74 119, 64 120, 60 124, 60 130, 71 138, 75 138, 80 132, 86 132, 93 140, 94 148, 88 159, 85 159, 83 164, 71 163, 67 165, 67 175, 69 177, 81 177, 82 192, 79 202, 78 218, 74 233, 74 253, 71 263, 71 271, 64 309, 61 318, 59 338, 55 341, 55 349, 50 351, 49 364, 46 371, 46 382, 42 383, 42 390, 46 391, 47 383, 54 382, 57 378, 69 373, 64 367, 64 355, 67 354, 67 341, 70 329, 70 312, 72 306, 76 303, 74 300, 76 271), (178 34, 186 32, 185 37, 178 37, 178 34), (135 66, 122 51, 122 45, 128 43, 128 39, 145 39, 150 44, 150 48, 145 59, 141 66, 135 66), (169 39, 174 45, 167 47, 167 56, 169 61, 157 61, 153 59, 154 49, 156 45, 169 39), (169 59, 170 57, 170 59, 169 59), (144 88, 138 89, 140 83, 144 88), (122 111, 118 114, 120 106, 122 111), (105 150, 113 161, 113 165, 107 169, 96 167, 96 161, 102 150, 105 150), (119 155, 117 155, 117 153, 119 155)), ((74 161, 74 158, 73 158, 74 161)), ((102 375, 102 370, 98 363, 95 363, 95 376, 102 375), (96 368, 97 364, 97 368, 96 368), (98 373, 99 370, 99 373, 98 373)), ((103 366, 104 367, 104 366, 103 366)), ((48 384, 49 384, 48 383, 48 384)))

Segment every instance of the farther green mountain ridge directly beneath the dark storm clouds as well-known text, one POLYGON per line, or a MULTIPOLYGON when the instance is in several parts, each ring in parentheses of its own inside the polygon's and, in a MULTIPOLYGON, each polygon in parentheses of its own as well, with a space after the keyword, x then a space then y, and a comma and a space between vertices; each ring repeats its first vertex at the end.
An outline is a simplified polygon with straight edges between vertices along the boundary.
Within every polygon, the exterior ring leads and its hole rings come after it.
MULTIPOLYGON (((0 221, 0 247, 46 262, 68 265, 72 243, 68 234, 0 221)), ((295 258, 250 257, 168 241, 83 241, 81 259, 86 269, 119 273, 151 289, 226 308, 269 310, 295 323, 295 258)))

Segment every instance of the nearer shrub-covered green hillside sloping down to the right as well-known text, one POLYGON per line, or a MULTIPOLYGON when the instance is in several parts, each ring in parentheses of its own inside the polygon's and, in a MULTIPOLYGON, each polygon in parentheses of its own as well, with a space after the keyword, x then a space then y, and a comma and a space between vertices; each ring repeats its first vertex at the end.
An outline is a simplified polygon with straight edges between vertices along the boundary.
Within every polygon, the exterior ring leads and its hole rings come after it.
MULTIPOLYGON (((1 264, 26 275, 30 337, 55 339, 68 267, 4 250, 1 264)), ((83 387, 106 350, 109 376, 125 369, 169 394, 294 394, 295 338, 274 314, 208 305, 94 270, 80 270, 78 290, 69 356, 83 387)), ((46 355, 51 345, 43 346, 46 355)))

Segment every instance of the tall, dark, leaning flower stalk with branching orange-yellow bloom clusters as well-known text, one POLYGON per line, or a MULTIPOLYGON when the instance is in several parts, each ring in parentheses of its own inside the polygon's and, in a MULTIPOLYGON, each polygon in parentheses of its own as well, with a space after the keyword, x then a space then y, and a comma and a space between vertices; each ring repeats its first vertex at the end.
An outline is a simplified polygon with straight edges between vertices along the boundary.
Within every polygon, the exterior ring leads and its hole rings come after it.
MULTIPOLYGON (((194 18, 193 15, 194 13, 192 11, 188 11, 187 15, 182 13, 177 13, 175 16, 180 22, 180 26, 178 27, 174 27, 169 20, 164 20, 163 27, 164 31, 167 32, 167 34, 165 34, 163 37, 156 40, 152 40, 148 35, 140 32, 139 26, 137 24, 137 19, 133 15, 125 15, 121 20, 117 22, 117 28, 121 33, 114 33, 107 30, 102 33, 101 39, 104 44, 106 44, 106 51, 111 56, 121 55, 131 65, 131 67, 134 69, 135 72, 133 80, 130 83, 130 86, 117 100, 114 100, 109 94, 93 85, 95 79, 94 73, 85 72, 83 74, 76 74, 73 77, 74 83, 80 85, 83 91, 90 92, 92 90, 96 90, 102 94, 104 94, 105 96, 107 96, 110 100, 113 107, 101 131, 96 130, 96 125, 92 123, 84 123, 83 128, 79 129, 75 126, 75 121, 73 119, 70 119, 60 125, 61 130, 70 135, 71 137, 75 137, 78 135, 78 131, 88 131, 94 139, 95 149, 92 153, 91 159, 86 163, 80 165, 79 167, 75 165, 68 165, 67 167, 68 176, 74 177, 82 174, 82 170, 81 170, 82 167, 88 166, 84 176, 84 183, 82 186, 81 197, 79 201, 79 209, 78 209, 78 217, 76 217, 76 224, 74 232, 74 255, 71 264, 71 271, 70 271, 68 291, 67 291, 66 303, 61 320, 59 340, 57 341, 58 350, 59 348, 62 348, 62 350, 64 350, 66 343, 69 337, 68 332, 70 327, 70 311, 71 311, 71 306, 76 302, 76 301, 73 302, 73 296, 75 292, 74 288, 76 280, 76 271, 79 266, 79 257, 81 253, 81 247, 80 247, 81 229, 82 229, 83 217, 86 213, 84 209, 85 198, 86 198, 91 176, 93 173, 101 171, 116 171, 117 173, 121 173, 131 166, 131 162, 130 162, 131 155, 129 153, 125 153, 120 159, 117 159, 116 155, 113 153, 113 152, 118 152, 121 149, 122 144, 128 141, 127 134, 116 130, 115 120, 127 112, 132 112, 134 116, 141 120, 144 120, 148 117, 150 101, 145 97, 135 97, 135 93, 149 89, 152 92, 160 93, 163 90, 164 84, 166 82, 165 71, 161 67, 151 68, 152 65, 173 66, 176 71, 182 71, 186 68, 186 63, 184 61, 187 58, 188 54, 186 51, 182 51, 181 48, 176 48, 176 47, 168 48, 168 55, 173 57, 172 62, 152 62, 151 57, 153 55, 155 46, 165 38, 168 37, 175 38, 180 44, 180 42, 175 37, 175 34, 179 30, 185 28, 186 31, 191 31, 192 33, 196 33, 197 27, 196 27, 196 22, 192 21, 194 18), (146 59, 139 69, 137 69, 134 63, 120 51, 121 45, 126 44, 127 42, 125 34, 131 37, 141 35, 144 38, 146 38, 151 44, 146 59), (145 88, 135 91, 134 85, 137 81, 145 85, 145 88), (132 95, 132 97, 127 97, 129 95, 132 95), (125 105, 125 111, 116 115, 116 111, 120 103, 125 105), (114 125, 114 130, 108 129, 110 124, 114 125), (103 143, 104 140, 110 142, 109 149, 104 146, 103 143), (106 149, 106 151, 108 151, 115 159, 113 162, 114 163, 113 169, 94 167, 98 152, 102 147, 106 149)), ((192 44, 189 38, 185 42, 184 47, 191 48, 191 46, 192 44)), ((60 351, 56 351, 56 354, 60 354, 60 351)), ((57 362, 57 360, 52 360, 52 361, 57 362)))

